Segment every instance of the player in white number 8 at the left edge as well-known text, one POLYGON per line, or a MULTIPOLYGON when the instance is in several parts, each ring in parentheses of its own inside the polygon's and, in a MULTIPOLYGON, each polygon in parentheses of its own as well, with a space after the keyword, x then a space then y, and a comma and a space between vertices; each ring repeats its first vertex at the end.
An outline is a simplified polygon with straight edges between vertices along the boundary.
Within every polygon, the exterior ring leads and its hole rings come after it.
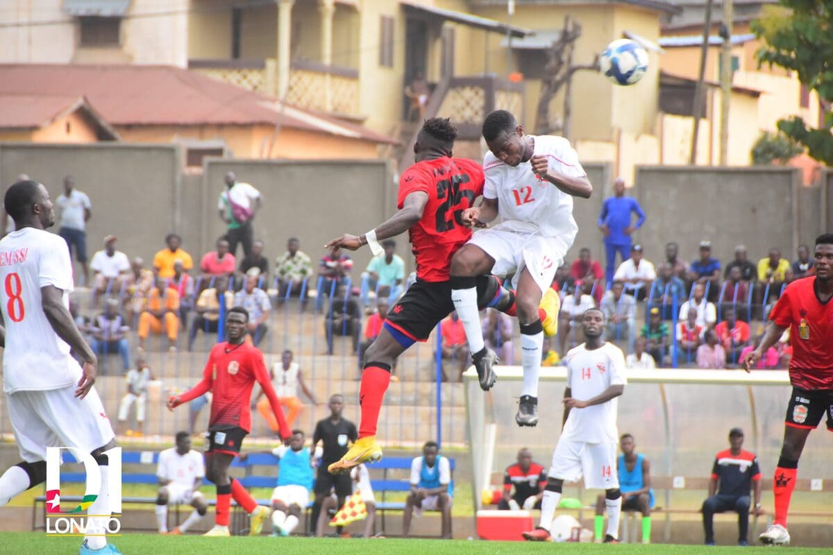
MULTIPOLYGON (((8 188, 3 203, 15 223, 15 230, 0 240, 0 310, 6 326, 3 391, 23 461, 0 477, 0 506, 46 480, 47 447, 91 453, 106 484, 104 453, 116 446, 104 405, 92 387, 96 355, 69 314, 72 263, 67 244, 46 231, 55 223, 49 193, 36 181, 18 181, 8 188), (83 368, 70 349, 83 360, 83 368)), ((110 514, 107 490, 101 488, 88 514, 110 514)), ((47 505, 56 502, 60 500, 54 492, 47 492, 47 505)), ((107 519, 89 521, 90 535, 79 553, 121 553, 104 536, 107 519)))

